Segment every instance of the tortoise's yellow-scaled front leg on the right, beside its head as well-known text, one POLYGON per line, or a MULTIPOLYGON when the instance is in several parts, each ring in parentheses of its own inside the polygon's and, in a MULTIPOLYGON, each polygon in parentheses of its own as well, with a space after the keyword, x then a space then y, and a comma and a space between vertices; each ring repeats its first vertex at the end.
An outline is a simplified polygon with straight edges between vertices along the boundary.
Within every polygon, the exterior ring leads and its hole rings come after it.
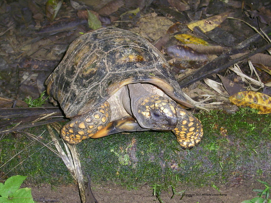
POLYGON ((203 137, 201 121, 180 106, 177 106, 176 112, 178 123, 172 131, 182 149, 192 149, 203 137))

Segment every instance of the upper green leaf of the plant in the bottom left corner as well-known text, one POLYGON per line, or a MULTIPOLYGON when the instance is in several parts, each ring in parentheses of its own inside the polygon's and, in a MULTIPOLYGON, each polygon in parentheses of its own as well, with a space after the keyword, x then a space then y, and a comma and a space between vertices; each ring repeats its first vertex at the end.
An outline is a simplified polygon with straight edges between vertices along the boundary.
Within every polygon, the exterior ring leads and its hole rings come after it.
POLYGON ((0 185, 0 195, 8 198, 12 193, 20 188, 20 185, 26 179, 26 176, 11 176, 5 181, 5 184, 0 185))

